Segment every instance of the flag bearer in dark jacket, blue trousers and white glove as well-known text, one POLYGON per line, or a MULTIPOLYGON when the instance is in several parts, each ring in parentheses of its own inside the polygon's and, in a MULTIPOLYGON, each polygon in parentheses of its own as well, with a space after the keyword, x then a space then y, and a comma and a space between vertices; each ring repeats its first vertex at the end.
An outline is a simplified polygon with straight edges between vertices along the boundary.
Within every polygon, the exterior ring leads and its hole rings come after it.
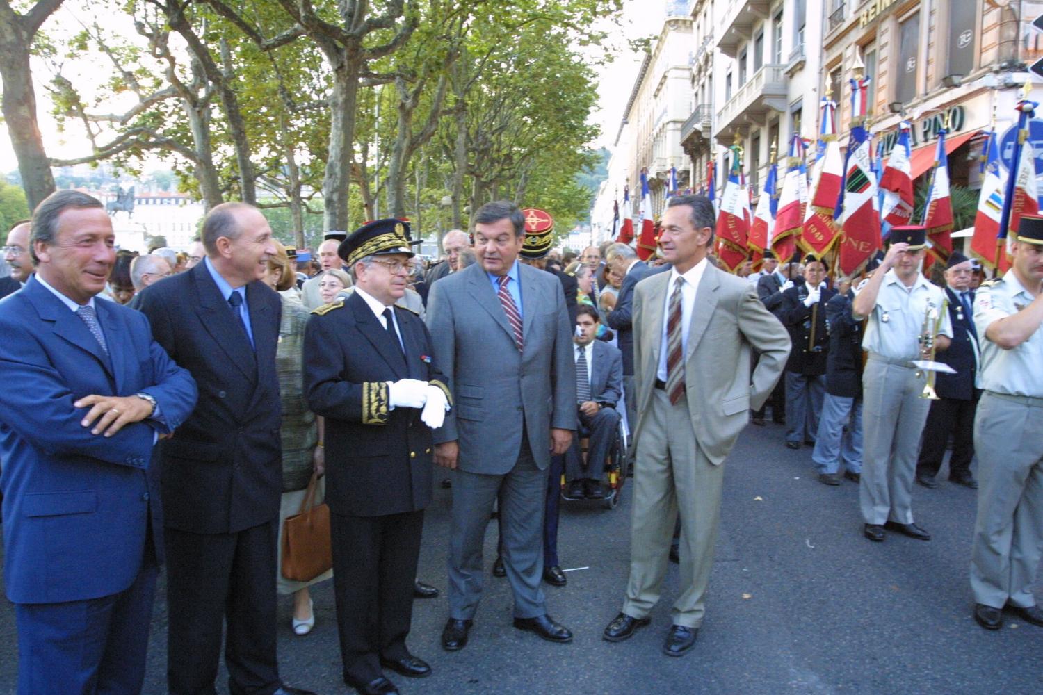
POLYGON ((782 293, 778 317, 790 331, 793 349, 785 365, 785 445, 799 449, 812 446, 819 430, 819 414, 826 390, 826 302, 836 294, 825 286, 826 265, 808 256, 804 277, 782 293))

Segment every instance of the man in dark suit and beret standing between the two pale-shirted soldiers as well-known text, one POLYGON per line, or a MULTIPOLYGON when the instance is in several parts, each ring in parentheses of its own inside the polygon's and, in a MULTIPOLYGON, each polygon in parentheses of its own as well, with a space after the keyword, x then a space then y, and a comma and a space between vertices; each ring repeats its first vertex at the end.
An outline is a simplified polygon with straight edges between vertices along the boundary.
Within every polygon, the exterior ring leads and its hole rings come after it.
POLYGON ((949 256, 945 270, 945 296, 949 320, 952 322, 952 343, 938 361, 956 370, 955 374, 939 372, 935 391, 939 399, 931 401, 923 444, 916 466, 916 480, 925 488, 937 488, 935 476, 942 467, 945 447, 952 436, 949 456, 949 480, 965 488, 977 489, 971 473, 974 457, 974 414, 981 390, 974 387, 977 366, 981 358, 977 328, 974 325, 973 299, 970 282, 971 260, 959 251, 949 256))

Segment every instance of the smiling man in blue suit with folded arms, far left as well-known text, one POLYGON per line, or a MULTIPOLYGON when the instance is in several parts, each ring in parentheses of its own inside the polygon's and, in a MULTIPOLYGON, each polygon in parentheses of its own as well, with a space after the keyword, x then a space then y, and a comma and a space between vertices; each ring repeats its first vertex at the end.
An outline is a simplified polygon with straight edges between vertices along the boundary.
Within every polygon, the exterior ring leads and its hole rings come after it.
POLYGON ((163 557, 152 447, 189 416, 191 375, 148 320, 96 299, 116 262, 101 203, 40 204, 37 274, 0 302, 4 579, 21 695, 137 693, 163 557))

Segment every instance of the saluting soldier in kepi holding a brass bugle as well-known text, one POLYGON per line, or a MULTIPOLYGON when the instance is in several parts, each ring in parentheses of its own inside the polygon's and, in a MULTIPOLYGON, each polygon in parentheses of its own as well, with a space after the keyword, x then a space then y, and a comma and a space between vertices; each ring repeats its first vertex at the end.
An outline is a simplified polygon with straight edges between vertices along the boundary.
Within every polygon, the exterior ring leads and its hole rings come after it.
POLYGON ((863 451, 859 503, 863 532, 882 541, 884 526, 929 541, 913 521, 913 477, 930 400, 925 378, 913 365, 933 343, 945 350, 952 338, 941 288, 920 272, 925 255, 923 227, 892 227, 891 248, 880 267, 855 295, 855 320, 868 317, 863 350, 863 451))

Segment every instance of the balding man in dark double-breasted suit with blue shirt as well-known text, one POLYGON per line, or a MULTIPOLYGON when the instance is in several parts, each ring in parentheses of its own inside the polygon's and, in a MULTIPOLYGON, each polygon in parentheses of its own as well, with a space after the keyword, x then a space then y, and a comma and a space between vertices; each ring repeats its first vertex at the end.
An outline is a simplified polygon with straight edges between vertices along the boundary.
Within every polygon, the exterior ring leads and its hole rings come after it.
POLYGON ((245 203, 211 209, 202 243, 202 263, 141 294, 155 340, 200 384, 192 417, 161 447, 168 685, 214 692, 226 620, 233 695, 302 693, 282 684, 275 657, 282 303, 260 279, 275 247, 245 203))

